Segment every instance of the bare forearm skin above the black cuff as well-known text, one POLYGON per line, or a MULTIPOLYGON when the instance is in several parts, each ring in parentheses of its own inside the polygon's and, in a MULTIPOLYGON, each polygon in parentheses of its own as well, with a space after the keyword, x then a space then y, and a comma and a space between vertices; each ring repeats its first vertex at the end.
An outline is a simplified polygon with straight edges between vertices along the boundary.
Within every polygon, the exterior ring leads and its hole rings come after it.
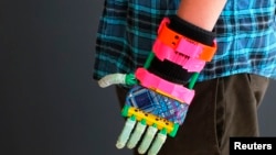
POLYGON ((226 0, 181 0, 178 16, 208 31, 212 31, 226 0))

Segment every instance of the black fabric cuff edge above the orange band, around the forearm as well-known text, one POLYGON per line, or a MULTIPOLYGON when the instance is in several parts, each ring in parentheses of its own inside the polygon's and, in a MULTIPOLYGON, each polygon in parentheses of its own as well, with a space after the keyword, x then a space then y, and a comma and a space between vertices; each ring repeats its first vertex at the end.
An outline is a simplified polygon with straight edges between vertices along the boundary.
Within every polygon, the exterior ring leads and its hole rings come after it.
POLYGON ((212 46, 215 38, 215 33, 203 30, 197 25, 193 25, 178 15, 172 15, 169 18, 170 24, 168 25, 171 30, 177 33, 182 34, 183 36, 197 41, 199 43, 212 46))

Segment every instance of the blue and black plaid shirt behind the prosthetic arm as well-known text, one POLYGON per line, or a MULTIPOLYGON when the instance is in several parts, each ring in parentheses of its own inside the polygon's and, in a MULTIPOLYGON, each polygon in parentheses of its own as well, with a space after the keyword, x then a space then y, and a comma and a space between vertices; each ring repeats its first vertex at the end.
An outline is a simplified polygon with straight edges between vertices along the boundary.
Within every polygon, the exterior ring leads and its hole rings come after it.
MULTIPOLYGON (((179 3, 106 0, 97 33, 94 78, 134 73, 142 66, 161 20, 176 14, 179 3)), ((275 0, 229 0, 214 27, 217 52, 199 80, 240 73, 276 78, 275 29, 275 0)))

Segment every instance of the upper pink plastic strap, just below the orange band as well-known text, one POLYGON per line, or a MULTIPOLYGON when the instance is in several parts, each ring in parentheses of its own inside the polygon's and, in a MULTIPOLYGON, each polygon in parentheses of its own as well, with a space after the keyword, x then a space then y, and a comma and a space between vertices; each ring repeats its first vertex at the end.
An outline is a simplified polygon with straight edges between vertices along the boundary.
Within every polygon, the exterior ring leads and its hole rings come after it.
POLYGON ((195 57, 188 57, 179 52, 173 51, 170 46, 163 44, 160 40, 156 40, 152 52, 160 60, 168 59, 173 62, 190 73, 200 73, 205 66, 205 62, 195 57))

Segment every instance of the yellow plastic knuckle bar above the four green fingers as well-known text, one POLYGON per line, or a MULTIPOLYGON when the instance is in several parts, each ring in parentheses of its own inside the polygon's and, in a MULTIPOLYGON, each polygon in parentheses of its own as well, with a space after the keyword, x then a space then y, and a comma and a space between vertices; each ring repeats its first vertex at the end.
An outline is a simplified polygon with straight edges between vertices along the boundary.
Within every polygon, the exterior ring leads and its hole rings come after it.
POLYGON ((137 121, 141 121, 142 119, 145 119, 147 125, 151 126, 151 125, 156 124, 158 130, 166 129, 168 133, 171 133, 176 130, 176 129, 173 129, 174 123, 172 123, 166 119, 156 117, 153 114, 146 113, 146 112, 144 112, 137 108, 134 108, 134 107, 129 107, 128 113, 126 117, 131 117, 131 115, 135 115, 137 121))

